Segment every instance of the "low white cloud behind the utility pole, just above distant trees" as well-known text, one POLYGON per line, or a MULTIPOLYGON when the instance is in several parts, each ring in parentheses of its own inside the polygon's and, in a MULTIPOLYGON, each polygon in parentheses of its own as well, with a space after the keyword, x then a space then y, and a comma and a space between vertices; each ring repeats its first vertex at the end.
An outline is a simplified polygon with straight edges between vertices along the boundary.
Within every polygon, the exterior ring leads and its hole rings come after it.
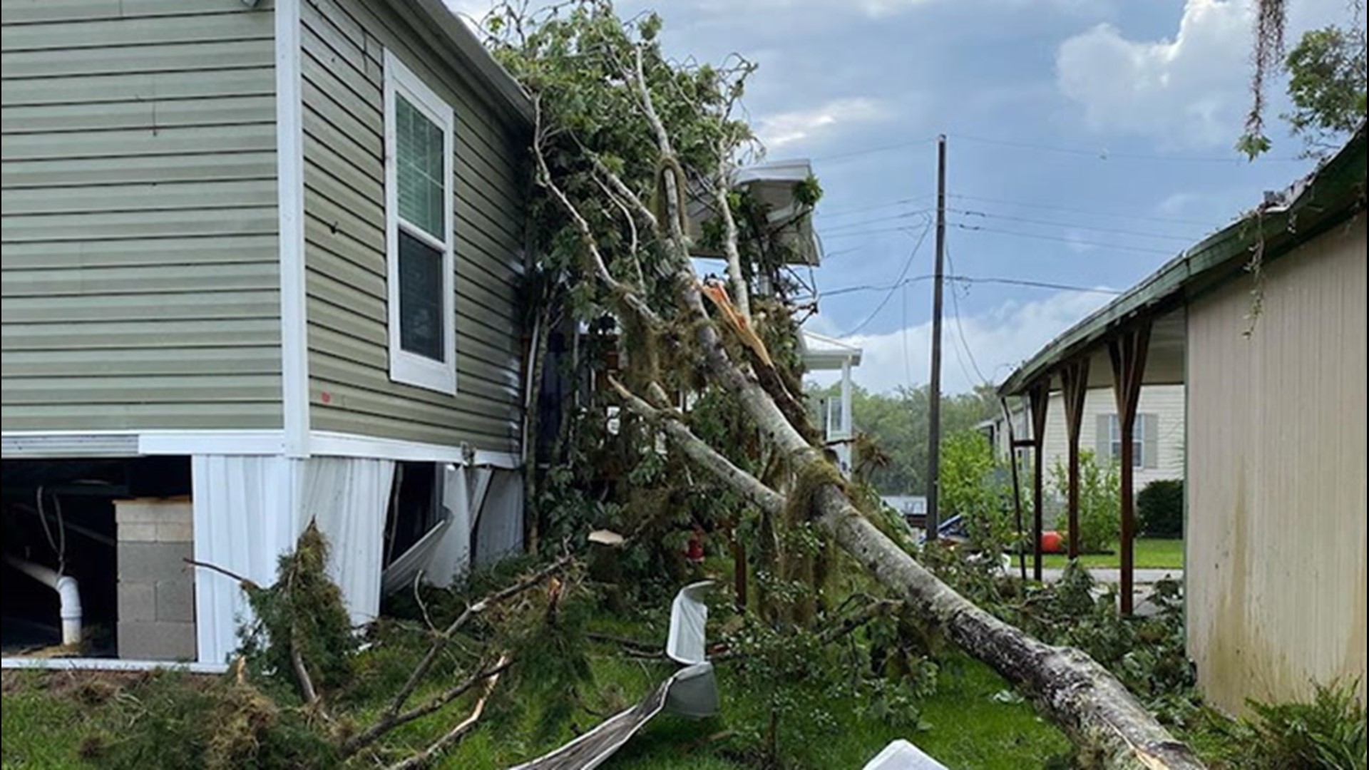
MULTIPOLYGON (((1017 364, 1109 299, 1105 293, 1060 292, 1042 300, 1008 301, 983 315, 962 315, 958 325, 954 318, 947 318, 942 329, 942 390, 967 392, 980 382, 980 371, 983 377, 1002 382, 1017 364)), ((819 333, 831 330, 821 316, 809 321, 808 327, 819 333)), ((860 366, 852 370, 852 380, 880 393, 899 385, 925 384, 931 369, 931 337, 928 322, 886 334, 845 338, 864 349, 860 366)), ((827 371, 810 374, 823 385, 836 377, 836 373, 827 371)))

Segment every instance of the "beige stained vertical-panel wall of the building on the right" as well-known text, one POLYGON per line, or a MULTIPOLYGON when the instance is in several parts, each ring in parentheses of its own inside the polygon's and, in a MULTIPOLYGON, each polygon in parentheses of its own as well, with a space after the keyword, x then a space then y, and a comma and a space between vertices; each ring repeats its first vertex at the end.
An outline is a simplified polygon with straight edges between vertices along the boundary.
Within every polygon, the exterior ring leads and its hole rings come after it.
POLYGON ((1188 312, 1188 652, 1205 699, 1365 697, 1365 215, 1188 312))

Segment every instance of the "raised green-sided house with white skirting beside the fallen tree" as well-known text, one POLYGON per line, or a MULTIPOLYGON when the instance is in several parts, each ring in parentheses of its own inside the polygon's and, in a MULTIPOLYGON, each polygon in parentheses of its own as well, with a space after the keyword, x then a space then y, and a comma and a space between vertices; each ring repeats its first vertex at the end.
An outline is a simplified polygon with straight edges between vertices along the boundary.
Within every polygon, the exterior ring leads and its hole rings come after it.
POLYGON ((48 573, 73 665, 218 666, 240 592, 177 548, 270 581, 316 521, 357 622, 519 549, 530 107, 441 0, 0 22, 5 665, 48 573))

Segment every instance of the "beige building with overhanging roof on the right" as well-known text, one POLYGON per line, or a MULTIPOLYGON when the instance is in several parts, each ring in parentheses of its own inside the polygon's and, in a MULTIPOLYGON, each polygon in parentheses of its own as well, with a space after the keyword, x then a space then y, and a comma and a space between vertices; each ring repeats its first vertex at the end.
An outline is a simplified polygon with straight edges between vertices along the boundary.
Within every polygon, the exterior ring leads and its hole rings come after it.
POLYGON ((1361 126, 1001 389, 1109 388, 1135 414, 1143 386, 1183 385, 1188 652, 1227 711, 1357 678, 1364 699, 1365 222, 1361 126))

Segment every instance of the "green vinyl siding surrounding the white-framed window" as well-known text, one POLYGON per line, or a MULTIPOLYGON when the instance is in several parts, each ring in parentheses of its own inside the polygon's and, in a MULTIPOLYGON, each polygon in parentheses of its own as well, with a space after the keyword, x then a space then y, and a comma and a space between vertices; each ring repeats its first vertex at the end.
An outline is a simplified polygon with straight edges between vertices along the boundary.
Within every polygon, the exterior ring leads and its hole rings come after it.
POLYGON ((304 3, 311 427, 516 451, 522 419, 519 132, 402 3, 304 3), (455 396, 389 377, 383 52, 456 114, 455 396))

